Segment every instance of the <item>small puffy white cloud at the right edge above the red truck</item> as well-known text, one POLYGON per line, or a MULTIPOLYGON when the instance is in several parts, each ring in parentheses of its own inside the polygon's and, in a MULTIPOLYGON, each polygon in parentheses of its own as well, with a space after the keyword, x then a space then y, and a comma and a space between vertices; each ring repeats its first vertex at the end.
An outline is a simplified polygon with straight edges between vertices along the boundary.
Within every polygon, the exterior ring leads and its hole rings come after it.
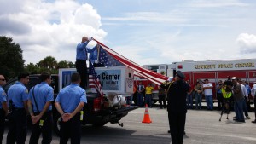
POLYGON ((241 53, 256 53, 256 36, 248 33, 241 33, 236 38, 236 43, 239 45, 241 53))

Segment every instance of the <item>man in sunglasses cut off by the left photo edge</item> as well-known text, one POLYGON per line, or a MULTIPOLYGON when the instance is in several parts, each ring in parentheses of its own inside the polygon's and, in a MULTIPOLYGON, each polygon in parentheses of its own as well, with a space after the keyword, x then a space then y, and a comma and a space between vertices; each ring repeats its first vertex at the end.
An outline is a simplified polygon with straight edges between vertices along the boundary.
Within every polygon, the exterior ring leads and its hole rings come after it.
POLYGON ((3 140, 5 116, 8 113, 6 94, 2 88, 4 84, 6 84, 6 80, 3 77, 3 75, 0 74, 0 143, 1 144, 3 140))

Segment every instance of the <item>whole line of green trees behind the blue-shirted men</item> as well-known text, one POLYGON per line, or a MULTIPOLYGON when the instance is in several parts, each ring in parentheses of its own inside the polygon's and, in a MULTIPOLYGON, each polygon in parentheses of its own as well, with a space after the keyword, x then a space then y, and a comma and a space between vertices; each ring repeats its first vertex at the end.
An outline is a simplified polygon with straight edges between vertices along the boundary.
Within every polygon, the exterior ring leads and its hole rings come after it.
POLYGON ((20 44, 13 42, 11 37, 0 36, 0 74, 6 78, 14 78, 20 72, 36 74, 46 71, 56 74, 59 68, 75 67, 72 61, 61 60, 58 62, 52 56, 47 56, 36 64, 25 65, 22 52, 20 44))

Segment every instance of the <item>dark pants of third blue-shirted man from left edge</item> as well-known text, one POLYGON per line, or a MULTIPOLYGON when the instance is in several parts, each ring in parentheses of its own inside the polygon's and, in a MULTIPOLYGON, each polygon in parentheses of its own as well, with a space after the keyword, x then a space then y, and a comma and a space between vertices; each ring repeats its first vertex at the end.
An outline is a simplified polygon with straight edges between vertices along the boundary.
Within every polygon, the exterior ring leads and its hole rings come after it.
MULTIPOLYGON (((34 112, 34 114, 38 115, 39 112, 34 112)), ((52 112, 44 113, 41 120, 44 120, 43 126, 39 125, 40 121, 32 125, 32 134, 29 140, 30 144, 38 143, 41 133, 43 136, 42 144, 49 144, 52 141, 52 112)))

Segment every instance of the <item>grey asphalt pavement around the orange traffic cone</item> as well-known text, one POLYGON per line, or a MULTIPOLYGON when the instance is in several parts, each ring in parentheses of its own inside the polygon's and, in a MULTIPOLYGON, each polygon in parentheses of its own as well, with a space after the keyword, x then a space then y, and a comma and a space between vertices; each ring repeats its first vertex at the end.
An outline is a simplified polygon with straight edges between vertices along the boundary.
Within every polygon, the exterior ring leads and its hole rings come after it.
MULTIPOLYGON (((102 128, 84 126, 82 129, 81 143, 90 144, 167 144, 171 136, 167 133, 168 118, 166 109, 159 107, 148 108, 152 120, 150 124, 142 123, 145 108, 138 108, 129 112, 128 116, 121 119, 124 127, 118 124, 106 124, 102 128)), ((255 144, 256 124, 251 123, 254 113, 249 112, 252 119, 246 119, 246 123, 238 123, 232 120, 235 112, 230 112, 226 119, 224 114, 219 122, 219 111, 189 110, 186 121, 185 144, 255 144)), ((5 130, 3 143, 6 140, 8 129, 5 130)), ((26 143, 29 141, 31 130, 28 130, 26 143)), ((52 143, 59 143, 59 138, 54 135, 52 143)))

